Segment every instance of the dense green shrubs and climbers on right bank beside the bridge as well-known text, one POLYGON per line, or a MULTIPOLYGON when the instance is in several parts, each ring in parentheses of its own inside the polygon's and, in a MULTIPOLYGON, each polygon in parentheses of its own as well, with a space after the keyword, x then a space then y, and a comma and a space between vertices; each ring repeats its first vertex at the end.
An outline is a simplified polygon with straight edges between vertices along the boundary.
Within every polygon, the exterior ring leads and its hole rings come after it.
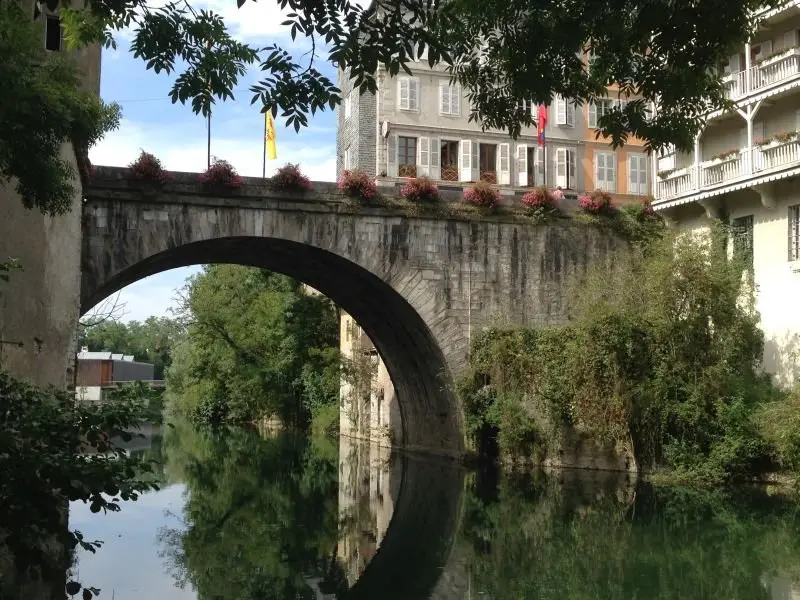
POLYGON ((576 282, 565 325, 476 334, 460 392, 477 449, 542 461, 578 432, 672 479, 796 468, 797 401, 761 372, 749 271, 727 241, 721 226, 655 236, 576 282))

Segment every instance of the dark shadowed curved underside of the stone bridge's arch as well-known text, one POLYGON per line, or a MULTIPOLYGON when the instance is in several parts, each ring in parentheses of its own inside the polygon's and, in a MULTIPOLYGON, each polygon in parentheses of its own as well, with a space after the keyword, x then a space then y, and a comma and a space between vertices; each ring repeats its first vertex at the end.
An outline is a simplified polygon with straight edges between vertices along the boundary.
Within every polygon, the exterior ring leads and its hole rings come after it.
MULTIPOLYGON (((460 407, 452 376, 430 329, 390 285, 337 254, 298 242, 228 237, 176 246, 92 282, 84 269, 81 311, 140 279, 195 264, 230 263, 293 277, 351 314, 373 340, 398 398, 403 447, 437 454, 463 450, 460 407)), ((106 271, 108 272, 108 271, 106 271)))

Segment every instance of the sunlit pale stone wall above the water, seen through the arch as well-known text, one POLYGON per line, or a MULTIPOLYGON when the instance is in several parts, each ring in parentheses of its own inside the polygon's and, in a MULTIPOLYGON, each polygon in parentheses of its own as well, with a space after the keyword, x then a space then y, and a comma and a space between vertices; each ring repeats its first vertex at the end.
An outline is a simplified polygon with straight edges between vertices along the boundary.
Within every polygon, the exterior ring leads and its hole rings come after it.
POLYGON ((401 426, 400 410, 386 365, 375 344, 353 317, 342 312, 340 325, 339 348, 345 359, 340 432, 396 443, 401 426))

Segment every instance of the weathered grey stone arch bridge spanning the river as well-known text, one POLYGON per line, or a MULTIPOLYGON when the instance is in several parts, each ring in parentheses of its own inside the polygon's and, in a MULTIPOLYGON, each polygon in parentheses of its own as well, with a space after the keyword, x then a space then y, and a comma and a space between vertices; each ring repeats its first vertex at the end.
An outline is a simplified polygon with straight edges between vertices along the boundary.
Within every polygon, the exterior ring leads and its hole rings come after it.
POLYGON ((197 174, 161 189, 98 167, 85 190, 81 310, 139 279, 193 264, 267 268, 318 289, 375 342, 398 397, 401 445, 458 455, 463 414, 454 378, 471 332, 492 323, 564 318, 566 284, 618 242, 560 220, 513 215, 410 217, 362 206, 330 183, 276 192, 261 179, 208 193, 197 174))

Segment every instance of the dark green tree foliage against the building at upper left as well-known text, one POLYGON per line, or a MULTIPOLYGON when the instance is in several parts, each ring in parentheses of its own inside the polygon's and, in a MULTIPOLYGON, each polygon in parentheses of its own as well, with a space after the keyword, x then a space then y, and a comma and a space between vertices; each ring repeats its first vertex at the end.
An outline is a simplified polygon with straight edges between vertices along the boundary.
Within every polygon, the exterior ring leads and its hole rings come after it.
POLYGON ((85 157, 118 125, 119 107, 79 91, 74 64, 47 55, 40 28, 16 2, 0 2, 0 180, 14 180, 26 207, 55 215, 75 197, 76 173, 62 145, 71 142, 85 157))

